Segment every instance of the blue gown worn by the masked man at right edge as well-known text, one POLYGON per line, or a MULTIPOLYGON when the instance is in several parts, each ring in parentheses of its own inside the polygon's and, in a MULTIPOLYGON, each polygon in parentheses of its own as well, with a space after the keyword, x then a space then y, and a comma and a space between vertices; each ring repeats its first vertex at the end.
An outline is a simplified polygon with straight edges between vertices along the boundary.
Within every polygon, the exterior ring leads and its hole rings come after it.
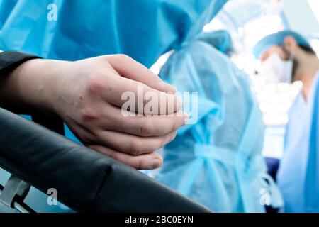
POLYGON ((308 100, 306 101, 300 92, 289 111, 284 156, 277 174, 279 189, 284 198, 284 211, 289 213, 314 211, 309 205, 312 202, 317 206, 316 211, 319 211, 319 194, 311 193, 319 192, 319 169, 315 165, 312 170, 308 170, 310 162, 316 161, 319 151, 316 148, 319 140, 315 134, 315 128, 319 126, 318 121, 315 121, 318 116, 314 114, 318 113, 318 106, 315 106, 319 101, 318 78, 319 73, 313 80, 308 100), (309 194, 312 198, 307 199, 309 194))

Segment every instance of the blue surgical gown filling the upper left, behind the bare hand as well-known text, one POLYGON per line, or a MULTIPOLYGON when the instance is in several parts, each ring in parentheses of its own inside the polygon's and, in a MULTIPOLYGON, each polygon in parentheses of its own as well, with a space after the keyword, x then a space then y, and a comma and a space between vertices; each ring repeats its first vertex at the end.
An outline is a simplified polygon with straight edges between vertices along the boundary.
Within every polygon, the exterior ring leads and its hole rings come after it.
MULTIPOLYGON (((121 53, 150 67, 164 52, 201 33, 226 1, 0 0, 0 49, 57 60, 121 53), (50 4, 57 11, 47 8, 50 4), (56 13, 56 21, 49 20, 50 13, 56 13)), ((33 207, 42 202, 45 206, 45 198, 30 198, 33 207)))

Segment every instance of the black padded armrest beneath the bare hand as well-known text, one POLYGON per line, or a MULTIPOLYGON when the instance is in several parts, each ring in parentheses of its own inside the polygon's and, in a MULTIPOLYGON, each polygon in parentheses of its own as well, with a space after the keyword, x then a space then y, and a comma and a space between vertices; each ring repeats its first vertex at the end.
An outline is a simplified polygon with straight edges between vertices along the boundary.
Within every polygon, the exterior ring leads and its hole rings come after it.
POLYGON ((0 167, 75 211, 210 212, 154 179, 0 109, 0 167))

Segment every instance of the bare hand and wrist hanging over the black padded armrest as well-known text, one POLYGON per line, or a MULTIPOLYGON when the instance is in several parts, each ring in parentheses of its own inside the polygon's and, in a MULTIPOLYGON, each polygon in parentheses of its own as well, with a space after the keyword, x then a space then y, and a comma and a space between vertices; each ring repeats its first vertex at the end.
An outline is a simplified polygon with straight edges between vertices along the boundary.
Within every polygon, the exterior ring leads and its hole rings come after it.
POLYGON ((125 55, 77 62, 29 60, 0 82, 0 90, 6 102, 57 114, 84 145, 141 170, 162 165, 154 151, 173 140, 187 120, 176 114, 182 104, 175 88, 125 55), (139 87, 144 94, 157 94, 158 109, 164 112, 123 116, 122 94, 138 97, 139 87))

